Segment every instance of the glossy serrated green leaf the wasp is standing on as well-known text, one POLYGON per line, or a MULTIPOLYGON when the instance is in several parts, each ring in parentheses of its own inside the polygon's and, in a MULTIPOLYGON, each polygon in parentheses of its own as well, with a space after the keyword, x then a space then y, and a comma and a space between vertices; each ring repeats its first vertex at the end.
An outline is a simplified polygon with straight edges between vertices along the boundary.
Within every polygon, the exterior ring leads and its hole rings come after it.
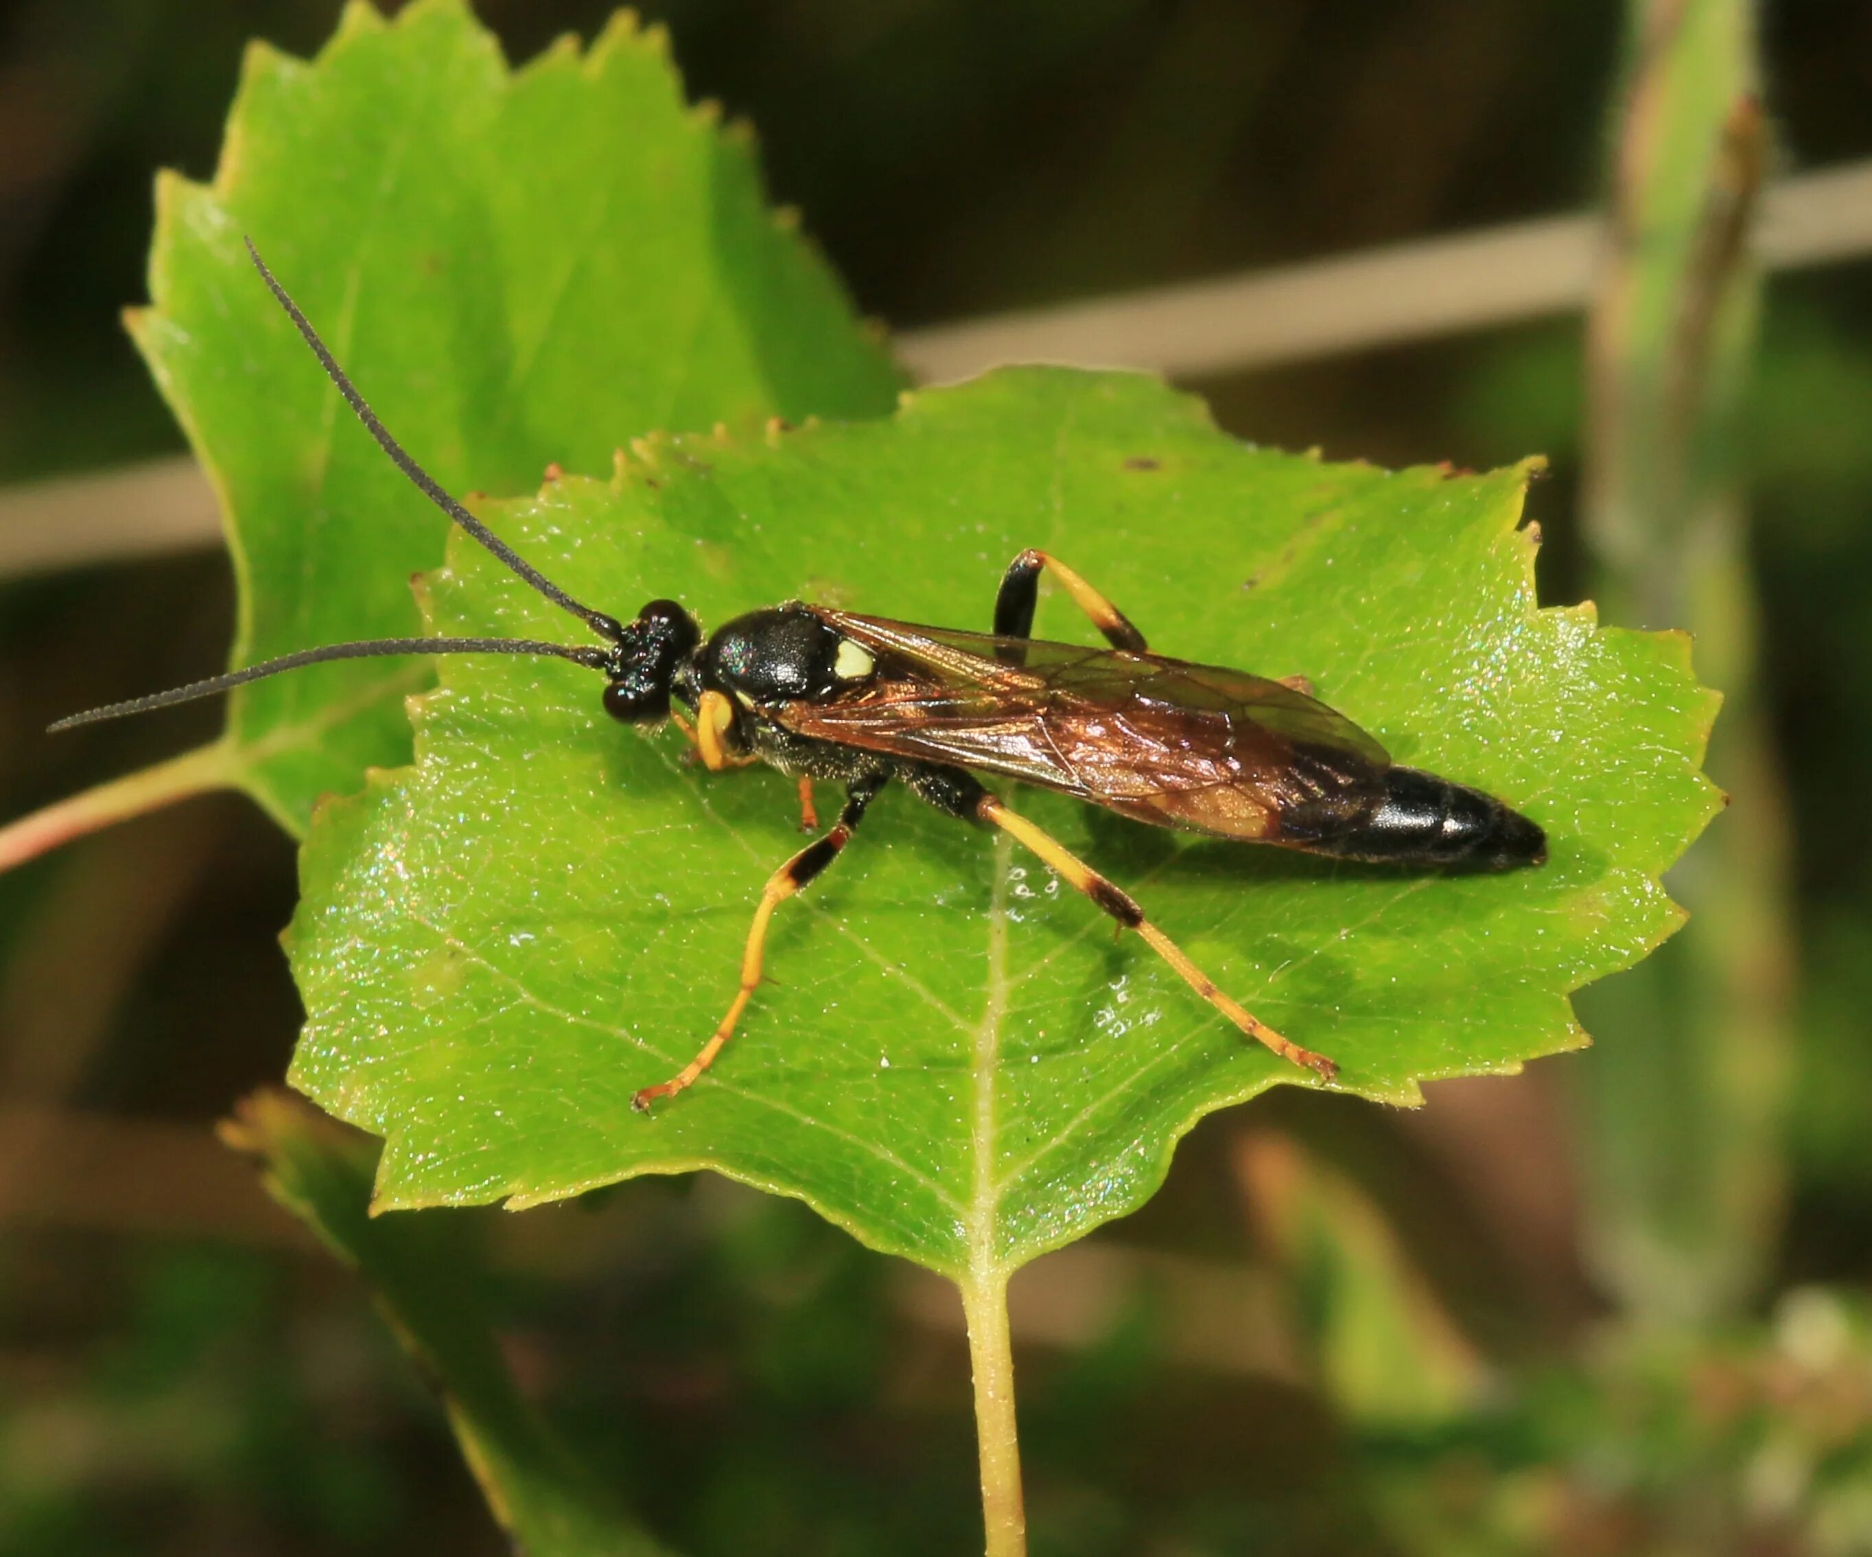
MULTIPOLYGON (((1544 867, 1464 879, 1016 796, 1346 1090, 1408 1104, 1425 1077, 1586 1042, 1565 991, 1677 922, 1657 875, 1715 806, 1713 699, 1681 637, 1535 609, 1522 468, 1322 465, 1234 442, 1151 378, 1063 369, 642 453, 494 523, 592 600, 678 594, 704 624, 803 596, 985 628, 1000 570, 1041 545, 1161 652, 1307 675, 1398 761, 1543 823, 1544 867)), ((554 626, 464 545, 431 622, 554 626)), ((1039 631, 1093 641, 1063 598, 1039 631)), ((1309 1081, 1005 838, 885 791, 781 909, 773 982, 723 1060, 633 1115, 734 993, 760 882, 799 847, 792 783, 708 776, 674 731, 607 721, 578 667, 442 675, 416 766, 316 821, 292 929, 311 1014, 292 1079, 388 1137, 380 1207, 713 1167, 979 1274, 1136 1207, 1204 1113, 1309 1081)))

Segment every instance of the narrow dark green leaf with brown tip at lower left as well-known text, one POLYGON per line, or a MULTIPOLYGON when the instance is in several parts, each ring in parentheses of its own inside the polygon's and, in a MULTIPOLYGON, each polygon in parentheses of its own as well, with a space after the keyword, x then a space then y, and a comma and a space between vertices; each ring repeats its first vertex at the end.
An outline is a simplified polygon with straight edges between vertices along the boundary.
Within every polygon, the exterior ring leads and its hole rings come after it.
POLYGON ((474 1291, 449 1218, 369 1214, 374 1143, 285 1092, 245 1098, 223 1139, 260 1160, 268 1194, 373 1289, 397 1340, 442 1392, 468 1469, 530 1557, 655 1557, 638 1531, 520 1396, 474 1291))

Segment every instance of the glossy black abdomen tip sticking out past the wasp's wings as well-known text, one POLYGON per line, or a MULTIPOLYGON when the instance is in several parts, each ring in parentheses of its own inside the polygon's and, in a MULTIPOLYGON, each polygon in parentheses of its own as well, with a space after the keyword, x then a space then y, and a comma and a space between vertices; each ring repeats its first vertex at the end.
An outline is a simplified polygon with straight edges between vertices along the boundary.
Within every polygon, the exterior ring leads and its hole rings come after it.
POLYGON ((1305 847, 1348 860, 1507 871, 1539 866, 1546 834, 1479 789, 1419 768, 1387 768, 1385 798, 1365 821, 1305 847))

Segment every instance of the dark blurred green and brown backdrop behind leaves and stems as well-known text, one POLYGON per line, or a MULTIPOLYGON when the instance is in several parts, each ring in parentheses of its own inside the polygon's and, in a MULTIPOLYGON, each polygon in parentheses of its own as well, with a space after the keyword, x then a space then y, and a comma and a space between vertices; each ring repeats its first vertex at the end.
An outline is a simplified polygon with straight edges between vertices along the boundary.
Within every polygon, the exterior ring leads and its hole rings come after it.
MULTIPOLYGON (((1636 24, 1694 4, 642 9, 908 330, 1604 208, 1636 24)), ((526 58, 608 6, 477 11, 526 58)), ((249 37, 307 54, 335 15, 0 13, 0 483, 182 448, 116 317, 152 174, 212 172, 249 37)), ((1784 0, 1758 43, 1771 176, 1872 156, 1872 7, 1784 0)), ((1599 1049, 1413 1117, 1215 1117, 1140 1216, 1015 1282, 1035 1551, 1872 1553, 1868 259, 1769 275, 1754 347, 1702 363, 1735 380, 1689 463, 1739 624, 1692 588, 1694 513, 1638 564, 1608 530, 1589 407, 1632 341, 1606 315, 1591 350, 1572 315, 1192 386, 1230 431, 1335 457, 1548 453, 1544 598, 1664 626, 1662 594, 1704 630, 1743 693, 1737 806, 1681 882, 1717 941, 1593 991, 1599 1049)), ((0 819, 206 736, 213 708, 37 731, 212 675, 230 613, 208 551, 0 575, 0 819)), ((234 796, 0 877, 6 1557, 502 1550, 363 1287, 210 1134, 285 1070, 292 894, 288 841, 234 796)), ((678 1550, 979 1542, 947 1289, 713 1179, 459 1222, 528 1392, 678 1550)))

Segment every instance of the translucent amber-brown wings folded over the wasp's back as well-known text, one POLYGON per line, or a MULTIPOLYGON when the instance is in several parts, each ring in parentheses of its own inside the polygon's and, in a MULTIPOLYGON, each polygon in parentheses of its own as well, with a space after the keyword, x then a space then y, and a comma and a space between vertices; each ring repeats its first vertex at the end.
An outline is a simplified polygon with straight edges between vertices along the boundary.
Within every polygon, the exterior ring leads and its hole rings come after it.
POLYGON ((1314 841, 1383 796, 1383 748, 1280 682, 814 609, 876 669, 833 701, 790 704, 779 719, 803 736, 1002 774, 1219 838, 1314 841))

